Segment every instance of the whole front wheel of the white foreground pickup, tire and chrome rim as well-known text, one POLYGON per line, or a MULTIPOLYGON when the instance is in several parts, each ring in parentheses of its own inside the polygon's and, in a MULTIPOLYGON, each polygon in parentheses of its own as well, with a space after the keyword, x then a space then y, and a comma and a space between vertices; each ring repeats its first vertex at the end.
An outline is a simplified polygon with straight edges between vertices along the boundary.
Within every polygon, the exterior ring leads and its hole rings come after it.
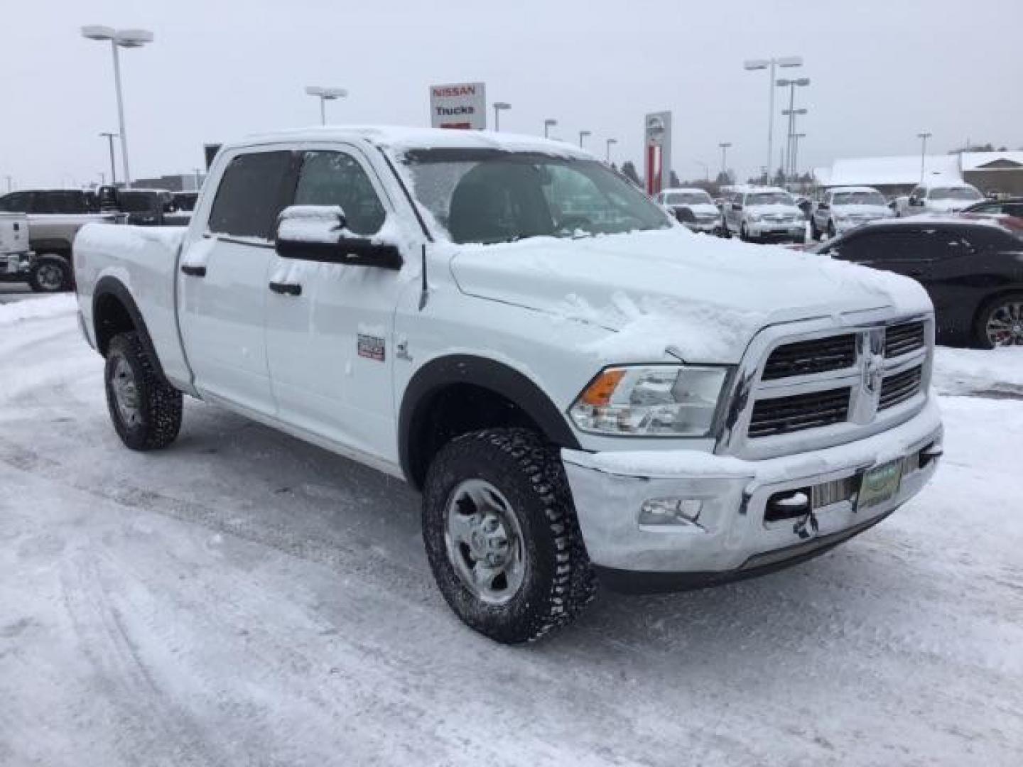
POLYGON ((441 449, 422 538, 448 605, 498 642, 564 626, 595 593, 561 458, 528 430, 474 432, 441 449))

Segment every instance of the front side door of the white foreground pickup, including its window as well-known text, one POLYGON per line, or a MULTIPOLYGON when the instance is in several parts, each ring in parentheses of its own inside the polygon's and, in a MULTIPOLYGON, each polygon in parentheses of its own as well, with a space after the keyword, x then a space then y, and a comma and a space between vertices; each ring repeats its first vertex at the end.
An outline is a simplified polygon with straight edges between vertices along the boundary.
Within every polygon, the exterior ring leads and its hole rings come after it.
MULTIPOLYGON (((372 166, 354 146, 301 156, 295 205, 340 206, 354 236, 394 217, 372 166)), ((389 227, 390 228, 390 227, 389 227)), ((394 313, 402 271, 274 257, 267 297, 267 358, 282 420, 361 453, 397 462, 394 313)))

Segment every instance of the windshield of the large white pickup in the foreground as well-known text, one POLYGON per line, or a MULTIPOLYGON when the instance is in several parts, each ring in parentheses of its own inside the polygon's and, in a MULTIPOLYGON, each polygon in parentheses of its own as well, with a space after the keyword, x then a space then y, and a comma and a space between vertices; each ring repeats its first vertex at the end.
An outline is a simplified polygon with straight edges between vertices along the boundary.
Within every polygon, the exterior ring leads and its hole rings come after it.
POLYGON ((402 163, 454 242, 615 234, 671 226, 663 209, 592 160, 500 149, 421 149, 402 163))

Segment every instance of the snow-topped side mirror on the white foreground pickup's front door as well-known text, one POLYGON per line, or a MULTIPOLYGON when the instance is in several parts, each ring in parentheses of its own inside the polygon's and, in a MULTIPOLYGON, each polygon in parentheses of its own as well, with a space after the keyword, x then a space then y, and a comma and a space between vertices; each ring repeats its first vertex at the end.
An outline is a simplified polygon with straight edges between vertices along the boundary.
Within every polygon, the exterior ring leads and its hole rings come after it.
POLYGON ((340 206, 291 206, 277 218, 277 255, 297 261, 401 269, 401 252, 390 236, 390 218, 381 231, 363 237, 348 229, 340 206))

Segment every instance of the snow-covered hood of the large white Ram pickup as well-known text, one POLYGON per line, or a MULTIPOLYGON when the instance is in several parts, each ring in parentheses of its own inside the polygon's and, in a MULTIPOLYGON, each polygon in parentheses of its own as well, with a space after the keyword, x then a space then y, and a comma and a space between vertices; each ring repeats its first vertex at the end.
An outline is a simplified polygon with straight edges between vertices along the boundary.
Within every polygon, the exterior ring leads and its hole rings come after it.
POLYGON ((891 307, 931 309, 914 280, 827 256, 694 235, 682 227, 579 239, 463 245, 451 258, 470 295, 618 331, 608 361, 737 363, 761 328, 891 307))

